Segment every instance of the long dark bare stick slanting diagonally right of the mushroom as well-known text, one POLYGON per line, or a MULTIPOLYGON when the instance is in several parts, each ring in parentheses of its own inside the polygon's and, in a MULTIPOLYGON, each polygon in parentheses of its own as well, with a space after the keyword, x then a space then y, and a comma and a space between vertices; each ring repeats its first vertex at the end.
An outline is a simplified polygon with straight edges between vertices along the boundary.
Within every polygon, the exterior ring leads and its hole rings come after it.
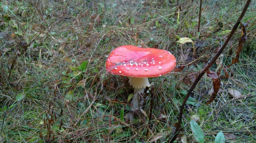
POLYGON ((245 7, 243 8, 243 11, 241 12, 236 24, 234 25, 234 27, 232 28, 230 34, 228 35, 228 38, 226 39, 225 43, 222 45, 221 49, 217 52, 217 54, 213 57, 213 59, 211 60, 211 62, 204 68, 204 70, 202 72, 200 72, 200 74, 197 76, 197 78, 195 79, 195 82, 193 83, 193 85, 190 87, 189 91, 187 92, 186 97, 184 98, 184 101, 182 102, 182 105, 180 107, 180 114, 179 114, 179 119, 178 119, 178 125, 176 127, 176 130, 174 132, 174 136, 173 138, 171 138, 171 140, 169 139, 168 142, 169 143, 173 143, 177 136, 178 133, 180 132, 180 124, 182 121, 182 114, 183 114, 183 109, 186 105, 186 102, 189 98, 189 95, 192 93, 193 89, 196 87, 198 81, 202 78, 202 76, 204 75, 204 73, 206 71, 208 71, 208 69, 211 67, 211 65, 213 65, 213 63, 219 58, 219 56, 221 55, 221 53, 223 52, 223 50, 225 49, 226 45, 228 44, 228 42, 230 41, 231 37, 233 36, 233 34, 235 33, 237 27, 240 24, 240 21, 242 20, 243 16, 245 15, 245 12, 247 11, 247 8, 249 7, 251 0, 247 0, 245 7))

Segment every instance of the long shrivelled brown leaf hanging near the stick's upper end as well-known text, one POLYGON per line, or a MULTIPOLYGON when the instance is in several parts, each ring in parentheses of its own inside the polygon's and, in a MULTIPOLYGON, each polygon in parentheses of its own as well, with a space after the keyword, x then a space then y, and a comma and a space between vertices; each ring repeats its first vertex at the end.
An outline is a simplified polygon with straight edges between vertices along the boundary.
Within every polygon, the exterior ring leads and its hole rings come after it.
POLYGON ((246 28, 245 28, 246 24, 240 22, 240 25, 241 25, 240 28, 242 28, 242 30, 243 30, 243 35, 239 38, 238 48, 236 50, 236 56, 235 56, 235 58, 233 58, 232 63, 230 65, 228 65, 227 67, 230 67, 234 63, 239 63, 239 55, 243 49, 243 43, 247 40, 246 28))

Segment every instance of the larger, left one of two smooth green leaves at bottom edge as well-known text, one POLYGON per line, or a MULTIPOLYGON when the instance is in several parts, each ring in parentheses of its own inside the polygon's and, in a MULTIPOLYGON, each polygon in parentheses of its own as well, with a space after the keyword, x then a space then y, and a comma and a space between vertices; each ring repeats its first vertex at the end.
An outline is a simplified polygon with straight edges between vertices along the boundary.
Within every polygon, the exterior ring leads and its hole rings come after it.
POLYGON ((197 141, 199 143, 203 143, 204 142, 204 133, 203 133, 202 129, 200 128, 200 126, 194 120, 191 120, 189 123, 190 123, 190 127, 191 127, 191 130, 193 131, 193 135, 194 135, 195 139, 197 139, 197 141))

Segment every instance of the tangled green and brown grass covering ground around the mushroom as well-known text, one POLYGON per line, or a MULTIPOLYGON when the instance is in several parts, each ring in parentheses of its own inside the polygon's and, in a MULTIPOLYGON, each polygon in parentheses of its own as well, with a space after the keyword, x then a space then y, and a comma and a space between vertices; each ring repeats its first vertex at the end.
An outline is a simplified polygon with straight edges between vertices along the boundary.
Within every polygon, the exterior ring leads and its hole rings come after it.
MULTIPOLYGON (((1 142, 156 142, 170 138, 184 92, 197 72, 226 40, 244 1, 203 1, 200 35, 197 2, 174 0, 63 0, 0 2, 1 142), (180 9, 178 8, 180 7, 180 9), (222 26, 221 26, 222 25, 222 26), (179 45, 178 37, 195 43, 179 45), (121 45, 144 45, 174 54, 181 72, 150 78, 143 110, 130 112, 128 79, 105 70, 108 54, 121 45), (182 47, 182 48, 181 48, 182 47), (182 53, 188 55, 182 58, 182 53), (195 61, 194 61, 195 60, 195 61), (192 62, 194 61, 194 62, 192 62), (123 119, 123 120, 122 120, 123 119)), ((210 105, 212 81, 204 76, 182 123, 187 142, 197 142, 189 121, 197 121, 206 142, 222 131, 227 142, 251 142, 255 136, 255 10, 252 1, 242 22, 251 19, 239 63, 226 68, 222 92, 210 105), (227 89, 243 98, 233 99, 227 89)), ((236 34, 223 52, 224 64, 235 56, 236 34)), ((217 65, 211 67, 215 71, 217 65)), ((224 76, 222 69, 221 75, 224 76)), ((180 142, 180 138, 177 139, 180 142)))

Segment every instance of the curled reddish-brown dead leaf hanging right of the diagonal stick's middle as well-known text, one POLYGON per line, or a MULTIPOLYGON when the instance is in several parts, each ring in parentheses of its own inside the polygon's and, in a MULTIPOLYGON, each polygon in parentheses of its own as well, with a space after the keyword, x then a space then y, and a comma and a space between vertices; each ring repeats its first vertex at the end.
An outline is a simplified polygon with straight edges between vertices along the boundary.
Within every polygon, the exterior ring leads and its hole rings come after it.
POLYGON ((213 83, 213 93, 211 94, 211 98, 209 101, 207 101, 207 105, 210 104, 215 97, 217 96, 217 93, 219 91, 219 87, 221 86, 221 80, 216 72, 213 71, 207 71, 207 76, 209 76, 212 79, 213 83))

